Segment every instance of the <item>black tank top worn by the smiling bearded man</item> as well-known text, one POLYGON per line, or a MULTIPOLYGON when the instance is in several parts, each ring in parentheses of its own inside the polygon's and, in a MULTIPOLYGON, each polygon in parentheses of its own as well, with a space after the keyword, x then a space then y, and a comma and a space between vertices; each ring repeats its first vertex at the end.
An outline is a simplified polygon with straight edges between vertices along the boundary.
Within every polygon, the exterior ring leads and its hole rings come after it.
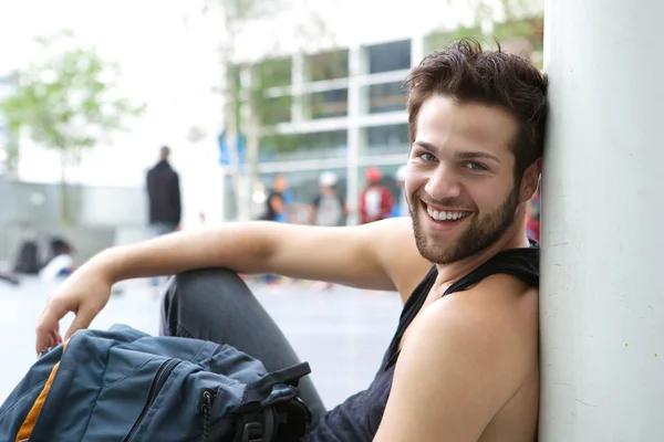
MULTIPOLYGON (((539 286, 539 245, 502 251, 449 286, 443 296, 465 291, 494 274, 508 274, 529 286, 539 286)), ((304 439, 307 442, 370 442, 374 439, 387 404, 398 344, 421 311, 438 272, 434 266, 404 305, 396 333, 369 389, 351 396, 328 412, 304 439)))

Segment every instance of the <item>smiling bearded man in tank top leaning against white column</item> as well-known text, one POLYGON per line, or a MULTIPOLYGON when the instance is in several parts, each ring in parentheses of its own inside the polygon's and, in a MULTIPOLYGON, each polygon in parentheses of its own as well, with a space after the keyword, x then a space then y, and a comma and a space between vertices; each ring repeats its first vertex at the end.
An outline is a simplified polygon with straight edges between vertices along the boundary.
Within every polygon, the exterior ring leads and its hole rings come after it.
MULTIPOLYGON (((461 40, 413 69, 407 85, 412 222, 235 223, 111 249, 51 296, 37 349, 61 341, 68 312, 77 316, 66 336, 86 327, 111 284, 128 277, 217 266, 396 290, 404 312, 367 390, 324 412, 311 382, 301 383, 317 418, 307 441, 532 442, 539 250, 525 223, 547 82, 521 57, 461 40)), ((164 332, 236 345, 268 369, 297 360, 228 274, 180 273, 165 298, 164 332)))

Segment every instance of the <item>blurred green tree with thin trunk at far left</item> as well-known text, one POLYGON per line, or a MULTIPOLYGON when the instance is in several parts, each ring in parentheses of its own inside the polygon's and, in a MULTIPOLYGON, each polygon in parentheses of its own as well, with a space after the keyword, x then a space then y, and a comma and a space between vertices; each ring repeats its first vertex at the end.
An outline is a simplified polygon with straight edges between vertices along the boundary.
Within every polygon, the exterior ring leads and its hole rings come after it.
POLYGON ((117 64, 104 61, 94 46, 81 45, 72 31, 35 42, 40 60, 10 76, 11 92, 0 102, 0 112, 11 134, 25 133, 33 143, 60 154, 61 215, 72 223, 69 171, 84 150, 126 129, 125 119, 139 115, 144 106, 121 96, 117 64))

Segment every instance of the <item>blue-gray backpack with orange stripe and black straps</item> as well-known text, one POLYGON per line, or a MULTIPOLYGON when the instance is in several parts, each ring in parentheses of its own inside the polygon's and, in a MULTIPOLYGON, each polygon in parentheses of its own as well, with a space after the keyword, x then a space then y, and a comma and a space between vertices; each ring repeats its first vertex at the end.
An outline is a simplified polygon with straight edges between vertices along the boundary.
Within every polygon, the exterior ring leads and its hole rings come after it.
POLYGON ((234 347, 80 330, 43 355, 0 407, 0 441, 297 441, 311 413, 307 362, 266 372, 234 347))

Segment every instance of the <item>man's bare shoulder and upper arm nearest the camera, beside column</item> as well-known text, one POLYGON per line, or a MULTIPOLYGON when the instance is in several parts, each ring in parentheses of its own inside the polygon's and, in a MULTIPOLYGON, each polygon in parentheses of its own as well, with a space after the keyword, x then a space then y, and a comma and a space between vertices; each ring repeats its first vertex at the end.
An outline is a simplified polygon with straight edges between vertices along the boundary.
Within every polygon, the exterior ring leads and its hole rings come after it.
POLYGON ((537 291, 511 276, 434 302, 411 326, 376 440, 440 441, 440 428, 483 440, 537 371, 537 291))

